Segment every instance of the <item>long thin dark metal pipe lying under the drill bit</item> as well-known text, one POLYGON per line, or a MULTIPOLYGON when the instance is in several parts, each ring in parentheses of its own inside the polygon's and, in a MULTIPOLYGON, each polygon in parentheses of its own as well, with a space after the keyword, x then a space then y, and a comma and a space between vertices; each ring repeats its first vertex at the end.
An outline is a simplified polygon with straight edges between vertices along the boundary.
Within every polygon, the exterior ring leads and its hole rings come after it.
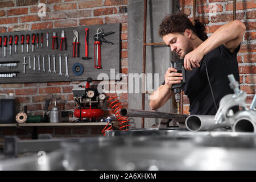
POLYGON ((158 111, 136 110, 136 109, 121 109, 120 114, 126 117, 143 117, 143 118, 164 118, 174 119, 178 117, 188 117, 188 114, 172 114, 158 111))

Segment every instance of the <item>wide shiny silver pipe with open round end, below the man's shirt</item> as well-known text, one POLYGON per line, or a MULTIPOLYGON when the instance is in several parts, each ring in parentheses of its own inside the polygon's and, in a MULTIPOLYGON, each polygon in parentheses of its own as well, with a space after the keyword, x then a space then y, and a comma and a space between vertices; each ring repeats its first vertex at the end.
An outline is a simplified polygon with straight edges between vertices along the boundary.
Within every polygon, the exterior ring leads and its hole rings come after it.
POLYGON ((214 115, 190 115, 185 121, 185 126, 189 131, 204 131, 230 127, 225 122, 216 124, 214 115))

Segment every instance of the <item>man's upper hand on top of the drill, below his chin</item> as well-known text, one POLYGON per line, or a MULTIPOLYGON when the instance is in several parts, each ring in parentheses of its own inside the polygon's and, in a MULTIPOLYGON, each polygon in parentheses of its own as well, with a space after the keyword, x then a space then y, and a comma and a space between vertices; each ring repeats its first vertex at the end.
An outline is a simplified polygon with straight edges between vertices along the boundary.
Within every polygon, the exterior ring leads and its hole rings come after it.
POLYGON ((198 49, 187 53, 184 57, 184 68, 187 71, 192 71, 191 65, 193 68, 200 67, 200 61, 203 59, 204 55, 198 49))

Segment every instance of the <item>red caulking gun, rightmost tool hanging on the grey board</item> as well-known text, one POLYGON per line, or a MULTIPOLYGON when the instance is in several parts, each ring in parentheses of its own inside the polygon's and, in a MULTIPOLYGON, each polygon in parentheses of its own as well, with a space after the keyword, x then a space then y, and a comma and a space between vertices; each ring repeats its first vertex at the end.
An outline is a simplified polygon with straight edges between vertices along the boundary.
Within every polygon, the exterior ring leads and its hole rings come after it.
POLYGON ((101 68, 101 42, 113 44, 108 40, 104 39, 104 36, 114 34, 115 32, 104 33, 102 28, 97 29, 97 33, 94 35, 94 68, 101 68))

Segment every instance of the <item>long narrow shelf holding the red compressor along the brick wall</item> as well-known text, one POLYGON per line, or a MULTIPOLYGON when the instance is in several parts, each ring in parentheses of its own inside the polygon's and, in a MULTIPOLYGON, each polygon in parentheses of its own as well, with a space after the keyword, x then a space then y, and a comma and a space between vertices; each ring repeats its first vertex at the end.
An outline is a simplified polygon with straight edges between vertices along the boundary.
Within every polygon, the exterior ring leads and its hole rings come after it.
POLYGON ((0 127, 19 127, 19 126, 106 126, 107 123, 83 122, 83 123, 6 123, 0 127))

